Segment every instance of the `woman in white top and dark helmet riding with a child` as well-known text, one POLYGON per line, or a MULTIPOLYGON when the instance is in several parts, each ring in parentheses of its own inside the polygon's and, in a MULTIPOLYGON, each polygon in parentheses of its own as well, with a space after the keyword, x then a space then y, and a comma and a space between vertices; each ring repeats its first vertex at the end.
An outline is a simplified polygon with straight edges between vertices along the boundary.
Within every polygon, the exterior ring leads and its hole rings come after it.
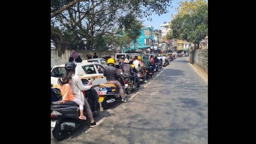
POLYGON ((83 104, 84 104, 84 108, 85 108, 85 112, 87 114, 87 117, 90 120, 90 127, 95 127, 97 125, 99 125, 100 123, 97 123, 94 121, 91 110, 90 110, 90 105, 87 102, 86 98, 84 98, 83 95, 83 90, 88 90, 90 89, 93 85, 91 84, 92 81, 90 81, 88 84, 88 86, 84 86, 83 82, 81 81, 81 78, 79 75, 75 75, 76 72, 76 64, 74 62, 67 62, 65 64, 65 70, 66 70, 66 74, 72 75, 71 78, 71 83, 69 84, 71 86, 72 89, 72 94, 80 99, 83 104))

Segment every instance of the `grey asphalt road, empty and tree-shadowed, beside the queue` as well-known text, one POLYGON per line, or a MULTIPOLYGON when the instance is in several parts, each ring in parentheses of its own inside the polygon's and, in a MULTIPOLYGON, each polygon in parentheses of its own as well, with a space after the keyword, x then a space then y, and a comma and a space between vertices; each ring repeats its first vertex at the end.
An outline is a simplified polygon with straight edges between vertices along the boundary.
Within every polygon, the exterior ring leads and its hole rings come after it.
MULTIPOLYGON (((179 57, 126 95, 109 110, 101 109, 69 137, 51 144, 208 144, 208 80, 179 57)), ((102 107, 101 107, 102 108, 102 107)))

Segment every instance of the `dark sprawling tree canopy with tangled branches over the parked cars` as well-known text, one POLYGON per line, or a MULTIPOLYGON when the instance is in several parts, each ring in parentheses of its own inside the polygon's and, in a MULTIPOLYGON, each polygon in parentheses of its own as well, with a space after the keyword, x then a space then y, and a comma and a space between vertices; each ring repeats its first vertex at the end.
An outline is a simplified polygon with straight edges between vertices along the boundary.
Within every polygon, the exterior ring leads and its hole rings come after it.
POLYGON ((51 38, 54 42, 74 43, 79 44, 79 48, 89 49, 97 45, 93 40, 103 35, 125 31, 134 39, 140 35, 138 28, 142 26, 142 21, 136 18, 149 17, 152 13, 166 14, 170 4, 171 0, 51 0, 52 30, 58 27, 59 33, 62 32, 59 36, 68 34, 67 39, 55 41, 58 36, 52 31, 51 38))

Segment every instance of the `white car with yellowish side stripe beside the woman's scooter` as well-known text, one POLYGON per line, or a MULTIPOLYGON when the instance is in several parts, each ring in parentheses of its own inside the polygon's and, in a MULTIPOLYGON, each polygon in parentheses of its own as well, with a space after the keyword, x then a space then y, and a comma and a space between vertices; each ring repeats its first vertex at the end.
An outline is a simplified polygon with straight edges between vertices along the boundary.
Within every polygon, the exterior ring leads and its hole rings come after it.
MULTIPOLYGON (((80 75, 83 83, 85 81, 89 82, 92 77, 95 77, 95 80, 92 82, 94 86, 97 86, 99 83, 106 83, 106 77, 103 75, 103 70, 105 67, 100 63, 93 62, 77 62, 76 63, 76 75, 80 75), (98 68, 101 67, 101 73, 98 71, 98 68)), ((55 65, 51 69, 51 84, 52 88, 60 89, 58 84, 58 78, 66 72, 65 64, 55 65)), ((87 83, 86 82, 86 83, 87 83)))

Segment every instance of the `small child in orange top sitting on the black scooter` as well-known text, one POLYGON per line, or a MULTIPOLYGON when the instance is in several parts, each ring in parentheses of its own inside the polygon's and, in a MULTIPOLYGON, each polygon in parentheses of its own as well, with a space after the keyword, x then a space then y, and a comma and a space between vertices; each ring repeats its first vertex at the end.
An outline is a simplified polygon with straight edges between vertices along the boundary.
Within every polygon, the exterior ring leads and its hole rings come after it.
POLYGON ((58 84, 61 85, 60 90, 62 93, 62 101, 59 101, 59 103, 65 103, 65 102, 69 102, 69 101, 76 102, 79 105, 79 109, 80 109, 79 118, 86 120, 86 117, 83 115, 83 102, 80 101, 78 98, 76 98, 72 94, 72 89, 69 85, 69 83, 71 83, 71 78, 72 78, 72 76, 69 74, 64 74, 64 75, 62 75, 62 77, 58 78, 58 84))

